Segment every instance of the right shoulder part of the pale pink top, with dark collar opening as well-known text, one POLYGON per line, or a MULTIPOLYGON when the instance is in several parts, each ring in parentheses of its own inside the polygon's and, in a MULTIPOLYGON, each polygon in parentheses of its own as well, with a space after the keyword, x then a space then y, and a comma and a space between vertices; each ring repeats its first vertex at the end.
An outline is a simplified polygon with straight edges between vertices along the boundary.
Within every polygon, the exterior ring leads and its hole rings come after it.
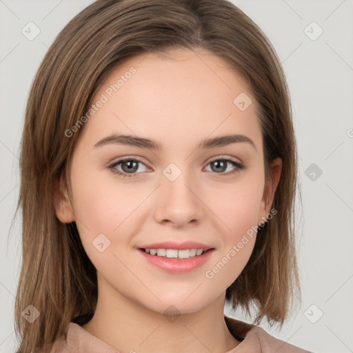
POLYGON ((229 353, 311 353, 288 342, 276 339, 262 327, 225 316, 225 323, 232 335, 241 341, 229 353))

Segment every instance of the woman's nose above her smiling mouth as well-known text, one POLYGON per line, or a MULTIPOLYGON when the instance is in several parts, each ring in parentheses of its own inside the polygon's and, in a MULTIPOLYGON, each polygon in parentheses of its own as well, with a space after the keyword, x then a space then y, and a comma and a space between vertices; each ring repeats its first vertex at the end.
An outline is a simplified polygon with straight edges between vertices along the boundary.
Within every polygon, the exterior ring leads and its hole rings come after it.
POLYGON ((199 223, 203 218, 201 188, 187 174, 182 172, 174 181, 162 176, 154 213, 157 222, 172 223, 179 228, 188 223, 199 223))

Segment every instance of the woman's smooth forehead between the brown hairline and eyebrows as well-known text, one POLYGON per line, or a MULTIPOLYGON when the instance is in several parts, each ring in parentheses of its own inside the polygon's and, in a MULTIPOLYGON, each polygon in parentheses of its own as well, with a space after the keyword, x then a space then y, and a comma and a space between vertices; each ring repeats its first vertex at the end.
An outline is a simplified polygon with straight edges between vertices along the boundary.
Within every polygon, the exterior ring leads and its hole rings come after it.
POLYGON ((247 82, 230 63, 206 50, 132 57, 110 72, 92 104, 99 100, 104 103, 84 129, 94 142, 112 132, 179 144, 225 133, 261 140, 247 82), (248 99, 248 108, 239 109, 237 97, 248 99))

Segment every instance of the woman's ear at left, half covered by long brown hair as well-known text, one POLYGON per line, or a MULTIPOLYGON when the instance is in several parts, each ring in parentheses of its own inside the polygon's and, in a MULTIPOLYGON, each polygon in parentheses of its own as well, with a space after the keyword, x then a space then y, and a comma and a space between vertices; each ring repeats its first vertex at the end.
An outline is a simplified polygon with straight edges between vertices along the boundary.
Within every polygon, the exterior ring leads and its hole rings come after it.
POLYGON ((54 181, 54 208, 55 214, 62 223, 71 223, 75 220, 74 208, 65 188, 62 176, 54 181))

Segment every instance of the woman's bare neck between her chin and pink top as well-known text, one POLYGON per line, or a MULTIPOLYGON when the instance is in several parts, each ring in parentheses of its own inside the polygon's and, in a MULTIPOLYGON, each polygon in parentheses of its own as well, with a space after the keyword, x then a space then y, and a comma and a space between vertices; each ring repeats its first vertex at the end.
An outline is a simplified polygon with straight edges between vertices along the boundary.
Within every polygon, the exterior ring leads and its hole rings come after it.
POLYGON ((240 343, 225 324, 224 296, 197 312, 172 316, 101 286, 94 316, 82 327, 119 352, 225 353, 240 343))

